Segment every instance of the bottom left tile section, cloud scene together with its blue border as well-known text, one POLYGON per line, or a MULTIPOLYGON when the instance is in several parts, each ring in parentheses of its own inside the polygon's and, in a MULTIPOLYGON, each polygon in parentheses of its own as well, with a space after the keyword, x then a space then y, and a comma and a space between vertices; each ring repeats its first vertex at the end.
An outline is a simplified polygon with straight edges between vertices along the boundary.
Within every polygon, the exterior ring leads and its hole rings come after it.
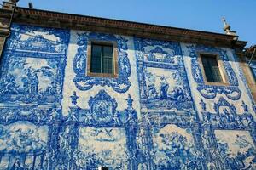
POLYGON ((60 108, 1 105, 0 167, 52 169, 57 154, 60 108))

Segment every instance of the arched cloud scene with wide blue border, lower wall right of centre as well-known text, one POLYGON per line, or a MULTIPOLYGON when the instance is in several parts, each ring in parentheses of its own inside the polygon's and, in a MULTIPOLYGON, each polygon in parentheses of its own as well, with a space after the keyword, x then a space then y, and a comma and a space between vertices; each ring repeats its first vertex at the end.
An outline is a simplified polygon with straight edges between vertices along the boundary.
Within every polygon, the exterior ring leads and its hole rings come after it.
POLYGON ((139 123, 138 167, 146 169, 203 169, 201 126, 187 115, 143 113, 139 123), (200 158, 200 159, 199 159, 200 158))

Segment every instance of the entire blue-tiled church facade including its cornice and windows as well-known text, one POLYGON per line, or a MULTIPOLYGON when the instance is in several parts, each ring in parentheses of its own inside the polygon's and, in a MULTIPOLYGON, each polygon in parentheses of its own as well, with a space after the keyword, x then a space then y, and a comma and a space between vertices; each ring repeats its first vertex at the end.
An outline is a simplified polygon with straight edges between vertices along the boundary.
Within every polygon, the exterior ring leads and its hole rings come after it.
POLYGON ((6 4, 1 169, 256 168, 246 42, 6 4))

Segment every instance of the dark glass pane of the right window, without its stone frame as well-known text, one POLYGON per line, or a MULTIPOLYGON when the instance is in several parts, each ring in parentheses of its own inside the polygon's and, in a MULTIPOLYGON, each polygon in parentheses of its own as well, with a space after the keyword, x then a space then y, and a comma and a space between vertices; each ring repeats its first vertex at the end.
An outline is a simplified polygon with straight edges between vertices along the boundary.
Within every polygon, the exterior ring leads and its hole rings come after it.
POLYGON ((201 55, 202 64, 206 73, 208 82, 223 82, 216 56, 201 55))

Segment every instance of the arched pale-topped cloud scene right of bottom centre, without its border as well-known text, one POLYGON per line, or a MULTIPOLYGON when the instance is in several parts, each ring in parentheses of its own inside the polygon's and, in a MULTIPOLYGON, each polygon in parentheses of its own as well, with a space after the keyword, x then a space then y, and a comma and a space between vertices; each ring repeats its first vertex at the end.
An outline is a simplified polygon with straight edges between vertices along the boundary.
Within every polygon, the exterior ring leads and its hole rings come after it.
POLYGON ((175 125, 154 129, 153 142, 156 169, 196 167, 194 139, 185 129, 175 125))

